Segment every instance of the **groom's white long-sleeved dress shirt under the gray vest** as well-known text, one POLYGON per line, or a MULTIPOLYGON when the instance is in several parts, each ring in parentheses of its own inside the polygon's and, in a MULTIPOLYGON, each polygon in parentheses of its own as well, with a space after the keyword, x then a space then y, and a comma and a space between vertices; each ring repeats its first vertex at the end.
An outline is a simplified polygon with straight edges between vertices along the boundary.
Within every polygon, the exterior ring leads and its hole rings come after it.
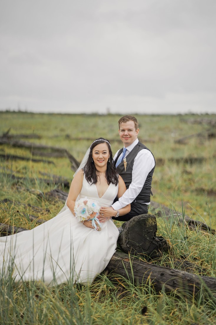
MULTIPOLYGON (((126 148, 127 150, 125 153, 125 157, 137 144, 138 139, 136 139, 130 146, 126 148)), ((114 155, 114 160, 117 157, 118 152, 119 150, 114 155)), ((132 182, 129 188, 123 194, 123 196, 119 198, 117 202, 112 204, 114 210, 119 210, 136 199, 141 189, 143 188, 143 185, 146 181, 146 177, 148 176, 149 172, 152 170, 154 165, 154 157, 149 150, 142 149, 138 152, 137 156, 134 159, 134 165, 132 170, 132 182)), ((150 202, 146 202, 145 204, 150 204, 150 202)))

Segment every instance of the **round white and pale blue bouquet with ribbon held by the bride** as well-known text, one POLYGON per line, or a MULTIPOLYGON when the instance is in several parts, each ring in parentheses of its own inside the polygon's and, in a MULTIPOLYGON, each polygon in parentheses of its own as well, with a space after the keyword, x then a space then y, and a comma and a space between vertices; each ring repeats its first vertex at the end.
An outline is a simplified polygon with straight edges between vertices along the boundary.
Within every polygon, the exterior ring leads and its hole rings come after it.
POLYGON ((99 230, 101 230, 101 224, 97 218, 100 214, 99 211, 100 206, 98 201, 85 197, 75 202, 74 212, 78 221, 91 220, 92 226, 95 230, 97 229, 97 225, 99 226, 99 230))

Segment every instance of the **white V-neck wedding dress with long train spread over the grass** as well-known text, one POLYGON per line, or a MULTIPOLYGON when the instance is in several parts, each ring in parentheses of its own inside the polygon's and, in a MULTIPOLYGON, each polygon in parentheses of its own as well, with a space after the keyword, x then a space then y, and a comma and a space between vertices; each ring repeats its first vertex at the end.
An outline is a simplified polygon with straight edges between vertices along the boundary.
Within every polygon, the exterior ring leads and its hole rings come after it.
MULTIPOLYGON (((81 197, 111 206, 118 185, 110 184, 99 198, 95 184, 83 179, 81 197)), ((0 277, 13 263, 15 282, 43 281, 48 286, 69 281, 90 284, 109 263, 116 250, 118 229, 112 220, 101 231, 85 227, 66 207, 54 218, 32 230, 0 237, 0 277)))

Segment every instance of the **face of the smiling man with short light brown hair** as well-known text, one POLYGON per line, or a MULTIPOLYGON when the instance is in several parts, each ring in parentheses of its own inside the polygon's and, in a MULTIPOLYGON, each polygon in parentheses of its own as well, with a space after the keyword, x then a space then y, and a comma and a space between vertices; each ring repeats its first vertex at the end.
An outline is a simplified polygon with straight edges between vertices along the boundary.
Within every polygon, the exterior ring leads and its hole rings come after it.
POLYGON ((134 121, 122 122, 118 133, 125 148, 127 148, 137 139, 139 129, 135 128, 134 121))

